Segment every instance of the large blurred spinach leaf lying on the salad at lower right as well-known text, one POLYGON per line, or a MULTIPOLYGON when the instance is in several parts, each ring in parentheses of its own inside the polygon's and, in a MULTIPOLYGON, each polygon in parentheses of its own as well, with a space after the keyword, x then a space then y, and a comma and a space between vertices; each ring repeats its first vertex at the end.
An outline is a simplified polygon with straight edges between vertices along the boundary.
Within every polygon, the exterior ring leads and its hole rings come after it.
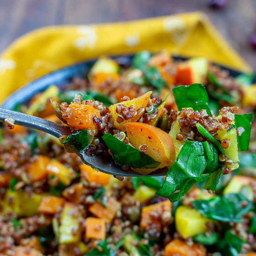
POLYGON ((241 222, 241 217, 253 205, 242 194, 225 194, 210 200, 193 201, 192 204, 204 217, 222 222, 241 222), (244 202, 247 202, 246 206, 244 202))

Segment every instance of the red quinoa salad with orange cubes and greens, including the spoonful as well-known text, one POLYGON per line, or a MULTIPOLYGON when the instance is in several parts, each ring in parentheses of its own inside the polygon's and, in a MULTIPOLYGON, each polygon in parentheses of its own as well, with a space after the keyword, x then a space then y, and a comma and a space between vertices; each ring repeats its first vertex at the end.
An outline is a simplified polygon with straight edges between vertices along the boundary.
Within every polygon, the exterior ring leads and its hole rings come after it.
POLYGON ((256 84, 162 50, 99 58, 15 111, 70 127, 0 130, 0 255, 256 256, 256 84), (111 158, 114 177, 76 153, 111 158))

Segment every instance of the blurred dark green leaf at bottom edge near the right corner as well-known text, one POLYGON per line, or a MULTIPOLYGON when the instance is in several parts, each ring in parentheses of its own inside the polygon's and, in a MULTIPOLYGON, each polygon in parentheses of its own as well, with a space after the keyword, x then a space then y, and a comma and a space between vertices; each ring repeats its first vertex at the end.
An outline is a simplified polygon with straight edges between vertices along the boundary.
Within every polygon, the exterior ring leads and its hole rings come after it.
POLYGON ((244 240, 226 231, 224 239, 217 244, 217 250, 225 256, 238 256, 244 240))

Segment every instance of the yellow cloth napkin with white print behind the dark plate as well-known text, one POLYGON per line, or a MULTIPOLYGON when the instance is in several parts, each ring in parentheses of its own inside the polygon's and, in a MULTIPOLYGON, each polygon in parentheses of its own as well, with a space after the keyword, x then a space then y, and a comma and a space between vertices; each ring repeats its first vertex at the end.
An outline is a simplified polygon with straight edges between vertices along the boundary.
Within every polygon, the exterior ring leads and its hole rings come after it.
POLYGON ((0 57, 0 102, 26 82, 76 62, 167 49, 181 57, 203 56, 244 72, 251 67, 201 12, 123 23, 53 26, 18 38, 0 57))

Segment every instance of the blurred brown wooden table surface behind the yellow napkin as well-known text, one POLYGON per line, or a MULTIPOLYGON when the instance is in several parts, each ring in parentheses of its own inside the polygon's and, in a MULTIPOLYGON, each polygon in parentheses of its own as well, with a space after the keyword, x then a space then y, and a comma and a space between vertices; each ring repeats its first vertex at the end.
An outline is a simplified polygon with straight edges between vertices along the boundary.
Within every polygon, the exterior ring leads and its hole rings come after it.
POLYGON ((0 0, 0 52, 17 37, 43 26, 129 21, 198 10, 256 71, 256 50, 248 43, 256 30, 256 0, 229 0, 222 10, 210 9, 207 0, 0 0))

